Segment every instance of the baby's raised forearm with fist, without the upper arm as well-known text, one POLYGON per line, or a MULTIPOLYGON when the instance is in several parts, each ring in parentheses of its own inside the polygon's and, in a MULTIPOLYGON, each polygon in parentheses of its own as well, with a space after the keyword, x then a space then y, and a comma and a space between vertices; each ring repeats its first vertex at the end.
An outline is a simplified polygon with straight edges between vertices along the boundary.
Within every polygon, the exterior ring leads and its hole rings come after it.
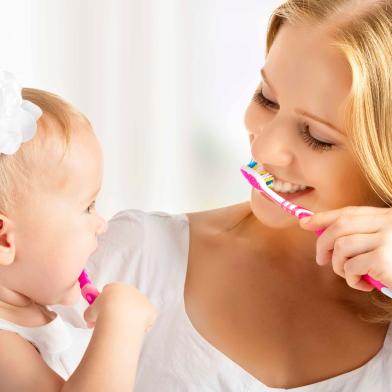
POLYGON ((112 283, 84 317, 95 326, 94 334, 64 391, 131 391, 144 334, 155 321, 154 307, 134 287, 112 283))

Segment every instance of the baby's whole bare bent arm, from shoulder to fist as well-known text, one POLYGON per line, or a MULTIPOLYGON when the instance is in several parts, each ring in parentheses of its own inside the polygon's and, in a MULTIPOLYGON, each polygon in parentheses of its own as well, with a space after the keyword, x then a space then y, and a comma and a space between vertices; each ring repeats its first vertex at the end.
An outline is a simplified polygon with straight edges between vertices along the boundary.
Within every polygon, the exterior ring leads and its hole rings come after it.
POLYGON ((79 366, 65 382, 35 348, 17 334, 0 331, 0 390, 132 391, 145 330, 155 311, 135 288, 105 286, 85 318, 95 330, 79 366))

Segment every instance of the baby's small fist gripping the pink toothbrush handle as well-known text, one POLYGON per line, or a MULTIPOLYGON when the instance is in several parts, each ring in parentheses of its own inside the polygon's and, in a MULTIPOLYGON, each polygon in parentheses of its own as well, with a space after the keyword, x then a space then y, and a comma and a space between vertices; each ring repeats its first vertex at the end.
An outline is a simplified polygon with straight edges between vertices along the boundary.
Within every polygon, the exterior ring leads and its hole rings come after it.
POLYGON ((156 310, 139 290, 124 283, 107 284, 101 294, 84 312, 89 328, 95 327, 98 319, 108 318, 111 322, 132 323, 147 332, 155 322, 156 310))

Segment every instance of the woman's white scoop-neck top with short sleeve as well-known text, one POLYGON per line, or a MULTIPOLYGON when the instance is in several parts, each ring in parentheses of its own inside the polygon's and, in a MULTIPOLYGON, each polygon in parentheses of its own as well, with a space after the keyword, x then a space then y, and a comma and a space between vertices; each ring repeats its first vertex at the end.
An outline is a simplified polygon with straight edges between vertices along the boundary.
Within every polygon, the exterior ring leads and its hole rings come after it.
MULTIPOLYGON (((125 211, 109 222, 89 265, 90 277, 100 289, 110 281, 128 282, 145 293, 159 311, 144 343, 135 392, 285 391, 257 380, 192 326, 183 295, 188 248, 186 215, 125 211)), ((61 312, 83 325, 82 311, 76 307, 61 312)), ((365 365, 290 391, 392 391, 392 328, 384 347, 365 365)))

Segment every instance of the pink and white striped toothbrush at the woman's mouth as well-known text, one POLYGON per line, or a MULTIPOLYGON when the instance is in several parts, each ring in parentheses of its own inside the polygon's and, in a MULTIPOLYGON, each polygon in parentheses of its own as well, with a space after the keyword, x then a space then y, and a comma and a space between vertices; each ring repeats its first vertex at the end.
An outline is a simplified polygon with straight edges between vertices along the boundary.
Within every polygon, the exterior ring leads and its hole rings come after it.
MULTIPOLYGON (((312 216, 314 213, 309 211, 301 206, 290 203, 288 200, 279 196, 276 192, 274 192, 270 185, 273 183, 273 176, 264 170, 262 165, 259 165, 255 161, 251 161, 248 165, 244 165, 241 167, 241 172, 244 177, 248 180, 248 182, 253 186, 253 188, 262 192, 265 196, 268 197, 275 204, 279 205, 283 210, 288 212, 291 215, 294 215, 298 219, 302 219, 305 216, 312 216)), ((320 236, 325 229, 316 230, 317 236, 320 236)), ((378 280, 373 279, 369 275, 363 275, 363 280, 371 284, 373 287, 381 291, 386 296, 392 298, 392 290, 388 289, 384 284, 379 282, 378 280)))

